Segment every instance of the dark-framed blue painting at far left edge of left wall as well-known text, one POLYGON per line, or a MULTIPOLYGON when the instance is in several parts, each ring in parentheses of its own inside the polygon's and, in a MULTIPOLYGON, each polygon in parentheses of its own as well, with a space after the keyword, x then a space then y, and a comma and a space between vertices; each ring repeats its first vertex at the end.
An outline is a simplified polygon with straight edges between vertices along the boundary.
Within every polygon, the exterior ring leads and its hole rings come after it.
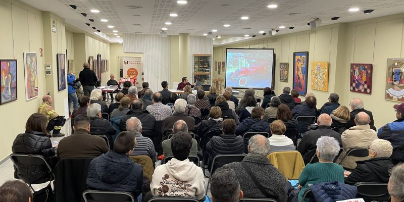
POLYGON ((17 100, 17 60, 0 60, 0 105, 17 100))

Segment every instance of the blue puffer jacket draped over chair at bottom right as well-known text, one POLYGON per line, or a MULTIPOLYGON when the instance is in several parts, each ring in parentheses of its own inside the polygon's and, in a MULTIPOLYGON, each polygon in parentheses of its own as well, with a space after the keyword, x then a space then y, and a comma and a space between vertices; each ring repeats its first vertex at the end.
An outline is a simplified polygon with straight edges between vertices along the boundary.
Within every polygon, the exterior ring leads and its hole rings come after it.
POLYGON ((355 198, 358 193, 356 186, 351 186, 338 181, 322 182, 310 186, 316 201, 332 202, 355 198))

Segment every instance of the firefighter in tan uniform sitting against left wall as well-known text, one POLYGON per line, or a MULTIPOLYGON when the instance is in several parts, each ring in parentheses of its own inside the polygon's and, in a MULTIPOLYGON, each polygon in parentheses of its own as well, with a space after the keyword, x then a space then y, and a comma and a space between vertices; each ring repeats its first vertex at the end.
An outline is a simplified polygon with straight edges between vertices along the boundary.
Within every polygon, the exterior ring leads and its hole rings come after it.
POLYGON ((44 114, 46 116, 46 131, 52 132, 53 137, 63 137, 65 134, 60 132, 62 126, 65 125, 66 119, 64 116, 59 116, 58 113, 52 107, 52 96, 51 95, 43 95, 42 97, 42 105, 38 109, 38 113, 44 114))

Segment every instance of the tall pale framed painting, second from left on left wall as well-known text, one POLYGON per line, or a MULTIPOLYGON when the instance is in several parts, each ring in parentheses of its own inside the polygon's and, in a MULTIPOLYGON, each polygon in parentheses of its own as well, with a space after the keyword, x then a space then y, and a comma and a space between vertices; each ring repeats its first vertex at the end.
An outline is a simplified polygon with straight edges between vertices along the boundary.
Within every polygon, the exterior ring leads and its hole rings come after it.
POLYGON ((30 100, 38 96, 38 67, 36 53, 24 53, 24 73, 26 99, 30 100))

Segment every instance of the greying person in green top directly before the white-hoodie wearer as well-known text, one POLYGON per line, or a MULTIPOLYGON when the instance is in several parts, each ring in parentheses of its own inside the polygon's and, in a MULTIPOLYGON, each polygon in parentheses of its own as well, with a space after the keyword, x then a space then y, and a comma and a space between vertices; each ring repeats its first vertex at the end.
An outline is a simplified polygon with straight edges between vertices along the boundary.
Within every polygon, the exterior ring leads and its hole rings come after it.
MULTIPOLYGON (((178 120, 177 122, 174 123, 173 126, 173 134, 178 134, 178 133, 185 133, 188 134, 188 127, 186 126, 185 121, 183 120, 178 120)), ((171 138, 164 140, 161 143, 163 147, 163 154, 164 157, 172 157, 173 156, 173 151, 171 150, 171 138)), ((198 153, 198 148, 197 148, 198 142, 192 138, 192 147, 191 151, 189 153, 189 156, 196 156, 198 153)))

